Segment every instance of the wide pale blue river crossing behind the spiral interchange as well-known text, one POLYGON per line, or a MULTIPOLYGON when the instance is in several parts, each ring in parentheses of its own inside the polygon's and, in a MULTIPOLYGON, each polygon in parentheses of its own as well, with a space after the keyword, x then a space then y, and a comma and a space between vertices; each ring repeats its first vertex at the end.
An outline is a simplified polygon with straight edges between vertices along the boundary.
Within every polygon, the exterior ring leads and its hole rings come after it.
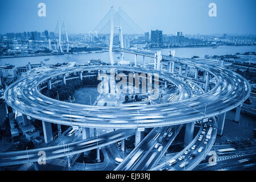
MULTIPOLYGON (((244 52, 256 52, 256 46, 220 46, 217 48, 212 47, 186 47, 186 48, 170 48, 161 49, 163 55, 169 55, 169 51, 175 50, 176 57, 191 58, 193 56, 199 56, 203 58, 205 55, 231 55, 233 53, 244 53, 244 52)), ((149 52, 156 52, 156 49, 148 50, 149 52)), ((115 61, 118 61, 120 53, 113 52, 115 61)), ((22 67, 28 62, 31 64, 38 64, 40 61, 44 61, 45 64, 57 64, 57 63, 68 63, 76 62, 79 64, 87 63, 91 59, 101 59, 105 63, 110 63, 109 52, 102 53, 86 53, 86 54, 68 54, 68 55, 54 55, 54 56, 34 56, 34 57, 13 57, 0 59, 0 65, 13 64, 16 67, 22 67), (44 59, 48 59, 44 61, 44 59)), ((142 56, 137 56, 137 61, 142 61, 142 56)), ((129 53, 124 54, 124 60, 133 61, 134 55, 129 53)), ((145 58, 146 61, 152 60, 150 57, 145 58)))

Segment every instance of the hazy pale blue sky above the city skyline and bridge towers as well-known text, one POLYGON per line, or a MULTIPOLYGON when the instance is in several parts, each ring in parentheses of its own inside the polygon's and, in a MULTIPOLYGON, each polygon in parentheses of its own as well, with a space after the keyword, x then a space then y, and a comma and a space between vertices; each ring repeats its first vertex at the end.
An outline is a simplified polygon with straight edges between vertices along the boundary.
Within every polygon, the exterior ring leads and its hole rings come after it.
POLYGON ((256 0, 1 0, 0 33, 55 31, 58 17, 65 17, 76 33, 92 31, 119 6, 143 31, 164 34, 256 34, 256 0), (46 3, 46 17, 38 16, 38 4, 46 3), (217 5, 217 17, 208 5, 217 5))

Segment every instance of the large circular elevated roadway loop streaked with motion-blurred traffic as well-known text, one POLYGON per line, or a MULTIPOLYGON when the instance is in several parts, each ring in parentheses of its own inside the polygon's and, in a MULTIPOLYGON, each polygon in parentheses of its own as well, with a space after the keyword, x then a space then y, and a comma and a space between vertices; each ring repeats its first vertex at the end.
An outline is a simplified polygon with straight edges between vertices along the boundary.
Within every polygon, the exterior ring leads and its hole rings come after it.
MULTIPOLYGON (((47 122, 80 127, 132 129, 180 125, 214 117, 236 108, 249 97, 250 86, 245 78, 226 69, 212 68, 206 65, 200 66, 200 68, 208 69, 208 72, 217 78, 217 84, 214 88, 200 96, 172 103, 117 107, 89 106, 53 100, 43 96, 38 89, 41 82, 65 73, 112 68, 139 73, 158 73, 159 78, 164 78, 168 82, 174 82, 172 80, 178 82, 174 78, 174 76, 179 77, 178 75, 167 72, 118 66, 57 69, 24 78, 6 89, 5 99, 8 105, 20 111, 20 113, 47 122), (31 90, 34 92, 32 93, 31 90), (206 110, 205 107, 207 107, 206 110), (69 113, 69 116, 63 117, 63 115, 68 115, 67 113, 69 113)), ((184 84, 183 86, 185 87, 184 84)), ((182 86, 180 88, 182 89, 182 86)))

